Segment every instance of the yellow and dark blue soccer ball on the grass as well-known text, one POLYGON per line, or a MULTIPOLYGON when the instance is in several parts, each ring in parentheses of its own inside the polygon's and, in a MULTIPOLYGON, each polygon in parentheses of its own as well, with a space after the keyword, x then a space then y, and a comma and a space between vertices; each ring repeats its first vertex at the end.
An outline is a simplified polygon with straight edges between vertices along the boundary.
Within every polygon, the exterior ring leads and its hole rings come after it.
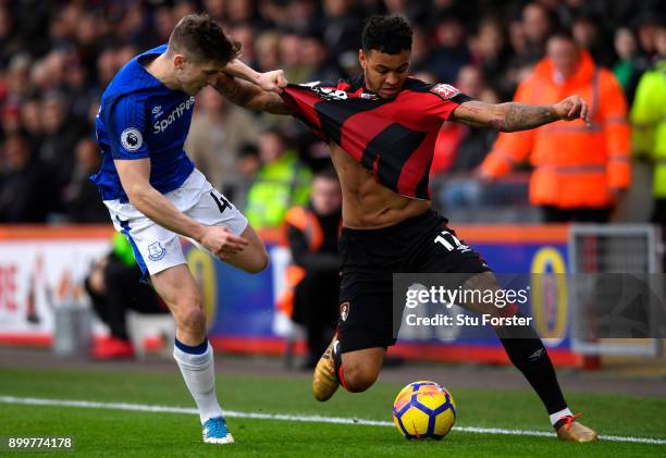
POLYGON ((456 421, 456 404, 448 391, 435 382, 410 383, 393 403, 393 422, 408 440, 441 440, 456 421))

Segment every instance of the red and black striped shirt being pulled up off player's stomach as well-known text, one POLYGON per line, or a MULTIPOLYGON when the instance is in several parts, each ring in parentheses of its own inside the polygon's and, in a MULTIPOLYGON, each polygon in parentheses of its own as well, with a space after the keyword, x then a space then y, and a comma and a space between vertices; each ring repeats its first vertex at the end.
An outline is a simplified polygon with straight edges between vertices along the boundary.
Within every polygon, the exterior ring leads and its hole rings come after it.
POLYGON ((437 132, 460 103, 471 100, 451 85, 411 77, 397 97, 383 100, 366 89, 362 76, 337 84, 288 85, 282 98, 314 134, 338 145, 378 183, 428 200, 437 132))

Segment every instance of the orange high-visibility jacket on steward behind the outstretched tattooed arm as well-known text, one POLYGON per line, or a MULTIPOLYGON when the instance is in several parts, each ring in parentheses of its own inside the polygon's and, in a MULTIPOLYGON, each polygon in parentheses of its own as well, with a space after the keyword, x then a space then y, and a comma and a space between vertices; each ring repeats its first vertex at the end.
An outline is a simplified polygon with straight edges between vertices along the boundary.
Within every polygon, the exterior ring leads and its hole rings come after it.
POLYGON ((627 103, 613 73, 581 51, 576 73, 556 82, 550 59, 542 60, 516 91, 515 101, 551 104, 579 95, 590 106, 591 125, 557 121, 535 129, 501 133, 481 172, 499 176, 529 157, 534 166, 530 202, 536 206, 603 208, 613 203, 610 188, 631 180, 627 103))

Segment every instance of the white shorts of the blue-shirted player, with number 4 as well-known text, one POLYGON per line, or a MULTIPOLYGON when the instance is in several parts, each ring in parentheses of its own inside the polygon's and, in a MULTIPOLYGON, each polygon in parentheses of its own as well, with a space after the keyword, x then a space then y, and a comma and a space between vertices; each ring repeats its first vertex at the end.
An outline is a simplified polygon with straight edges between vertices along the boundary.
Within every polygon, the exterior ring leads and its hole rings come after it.
MULTIPOLYGON (((240 235, 247 227, 247 218, 196 169, 180 188, 164 197, 178 211, 201 224, 225 226, 234 235, 240 235)), ((130 202, 121 203, 116 199, 104 200, 104 205, 115 230, 130 240, 144 275, 187 262, 178 234, 149 220, 130 202)))

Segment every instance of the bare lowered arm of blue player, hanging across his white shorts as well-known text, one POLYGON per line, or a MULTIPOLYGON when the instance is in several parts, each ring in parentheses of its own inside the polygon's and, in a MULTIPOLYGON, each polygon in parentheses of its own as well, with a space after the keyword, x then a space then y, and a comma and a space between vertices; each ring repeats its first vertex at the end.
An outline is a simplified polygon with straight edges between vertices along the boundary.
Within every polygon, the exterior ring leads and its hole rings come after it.
POLYGON ((148 219, 170 231, 197 240, 217 256, 243 251, 248 242, 224 226, 206 226, 180 212, 169 199, 150 185, 150 159, 115 159, 115 169, 130 202, 148 219))

